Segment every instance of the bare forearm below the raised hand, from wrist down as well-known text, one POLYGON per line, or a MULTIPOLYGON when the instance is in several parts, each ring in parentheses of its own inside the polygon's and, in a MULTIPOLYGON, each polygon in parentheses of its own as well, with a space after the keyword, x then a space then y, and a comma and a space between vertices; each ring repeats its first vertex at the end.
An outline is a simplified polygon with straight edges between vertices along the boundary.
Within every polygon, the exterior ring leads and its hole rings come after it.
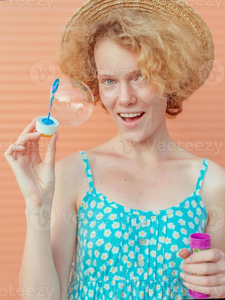
POLYGON ((28 212, 26 219, 27 231, 19 276, 19 286, 24 291, 21 299, 60 300, 60 283, 52 258, 50 222, 46 222, 48 224, 44 227, 38 218, 30 222, 28 212))

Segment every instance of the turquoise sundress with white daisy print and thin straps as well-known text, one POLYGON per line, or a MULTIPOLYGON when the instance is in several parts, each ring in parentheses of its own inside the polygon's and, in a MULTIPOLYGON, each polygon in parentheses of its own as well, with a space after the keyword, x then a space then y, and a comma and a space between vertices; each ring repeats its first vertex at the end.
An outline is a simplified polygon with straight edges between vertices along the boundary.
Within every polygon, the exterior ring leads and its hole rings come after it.
POLYGON ((178 250, 190 249, 189 235, 204 232, 207 224, 200 188, 209 159, 203 159, 189 197, 167 209, 142 211, 100 193, 86 152, 79 152, 89 189, 77 212, 76 254, 66 299, 195 299, 182 284, 178 250))

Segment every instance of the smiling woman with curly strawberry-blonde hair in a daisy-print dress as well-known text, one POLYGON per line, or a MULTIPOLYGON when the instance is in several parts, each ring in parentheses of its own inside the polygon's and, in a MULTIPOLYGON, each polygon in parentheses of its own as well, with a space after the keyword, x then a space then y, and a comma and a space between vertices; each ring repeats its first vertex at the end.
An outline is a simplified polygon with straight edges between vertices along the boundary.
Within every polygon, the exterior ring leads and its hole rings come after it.
POLYGON ((225 171, 180 148, 166 125, 208 78, 208 50, 182 23, 114 8, 65 29, 57 58, 66 76, 88 84, 118 133, 54 166, 55 134, 43 162, 16 146, 38 149, 33 120, 6 151, 26 201, 20 285, 47 287, 52 299, 193 299, 190 283, 223 298, 224 230, 210 231, 212 249, 192 255, 188 237, 206 232, 208 205, 224 211, 225 171), (53 219, 44 230, 34 218, 43 211, 53 219))

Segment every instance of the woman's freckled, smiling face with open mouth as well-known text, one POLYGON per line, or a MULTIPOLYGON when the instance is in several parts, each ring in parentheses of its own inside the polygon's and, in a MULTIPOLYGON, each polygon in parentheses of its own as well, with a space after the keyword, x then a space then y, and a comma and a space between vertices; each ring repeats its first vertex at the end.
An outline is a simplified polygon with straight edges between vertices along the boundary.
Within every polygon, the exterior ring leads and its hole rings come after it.
POLYGON ((99 94, 116 123, 119 133, 134 132, 140 141, 148 138, 162 123, 167 95, 156 96, 147 81, 141 82, 137 54, 121 48, 110 39, 101 39, 94 48, 99 94), (119 113, 140 113, 123 120, 119 113))

